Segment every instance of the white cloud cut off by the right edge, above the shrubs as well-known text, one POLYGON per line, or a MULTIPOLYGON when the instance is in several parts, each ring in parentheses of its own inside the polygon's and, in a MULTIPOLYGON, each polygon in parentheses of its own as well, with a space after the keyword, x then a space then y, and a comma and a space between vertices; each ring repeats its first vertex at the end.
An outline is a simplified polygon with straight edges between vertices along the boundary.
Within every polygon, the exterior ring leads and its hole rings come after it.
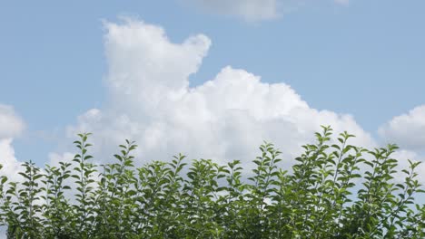
POLYGON ((425 150, 425 105, 394 117, 378 131, 383 139, 402 148, 425 150))

